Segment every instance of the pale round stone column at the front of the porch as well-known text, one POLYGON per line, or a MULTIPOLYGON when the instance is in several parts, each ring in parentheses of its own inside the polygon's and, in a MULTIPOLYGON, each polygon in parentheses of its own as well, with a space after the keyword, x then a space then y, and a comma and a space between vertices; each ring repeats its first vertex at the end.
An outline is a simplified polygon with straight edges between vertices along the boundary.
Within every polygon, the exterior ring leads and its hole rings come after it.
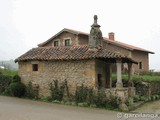
POLYGON ((117 60, 117 83, 116 88, 123 88, 122 83, 122 60, 117 60))

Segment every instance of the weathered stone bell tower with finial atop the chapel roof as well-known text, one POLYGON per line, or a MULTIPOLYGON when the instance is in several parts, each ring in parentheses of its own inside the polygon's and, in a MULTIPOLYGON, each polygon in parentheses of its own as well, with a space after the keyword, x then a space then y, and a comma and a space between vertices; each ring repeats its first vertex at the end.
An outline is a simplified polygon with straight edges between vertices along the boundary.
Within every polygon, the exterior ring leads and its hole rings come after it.
POLYGON ((94 15, 94 23, 91 26, 90 35, 89 35, 89 47, 102 47, 103 46, 103 37, 100 30, 100 25, 97 23, 97 15, 94 15))

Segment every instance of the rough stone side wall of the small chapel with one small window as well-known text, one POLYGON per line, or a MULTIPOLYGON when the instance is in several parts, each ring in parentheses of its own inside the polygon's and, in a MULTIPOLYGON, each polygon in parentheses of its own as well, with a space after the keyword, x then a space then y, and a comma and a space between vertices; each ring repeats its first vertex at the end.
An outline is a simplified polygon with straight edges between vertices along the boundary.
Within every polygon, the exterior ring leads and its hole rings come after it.
POLYGON ((19 75, 25 84, 29 81, 38 84, 41 97, 50 96, 50 83, 53 80, 62 82, 66 79, 71 92, 75 92, 76 86, 82 83, 88 87, 96 86, 95 60, 20 62, 19 75), (32 71, 33 63, 38 63, 38 71, 32 71))

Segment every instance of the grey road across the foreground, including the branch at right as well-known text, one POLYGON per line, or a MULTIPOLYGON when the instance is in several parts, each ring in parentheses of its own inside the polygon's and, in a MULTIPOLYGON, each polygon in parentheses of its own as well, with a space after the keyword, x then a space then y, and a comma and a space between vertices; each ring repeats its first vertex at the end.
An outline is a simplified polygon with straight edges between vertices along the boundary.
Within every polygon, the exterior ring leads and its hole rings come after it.
POLYGON ((137 117, 141 113, 160 114, 160 101, 121 113, 0 96, 0 120, 160 120, 155 116, 137 117))

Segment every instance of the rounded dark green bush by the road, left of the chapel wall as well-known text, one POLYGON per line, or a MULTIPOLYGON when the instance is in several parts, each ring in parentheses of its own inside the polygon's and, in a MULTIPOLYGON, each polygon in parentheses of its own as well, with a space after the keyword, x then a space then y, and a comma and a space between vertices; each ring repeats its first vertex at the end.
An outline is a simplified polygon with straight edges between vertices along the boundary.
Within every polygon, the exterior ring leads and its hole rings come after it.
POLYGON ((11 94, 16 97, 22 97, 25 94, 25 85, 20 82, 13 82, 9 85, 11 94))

